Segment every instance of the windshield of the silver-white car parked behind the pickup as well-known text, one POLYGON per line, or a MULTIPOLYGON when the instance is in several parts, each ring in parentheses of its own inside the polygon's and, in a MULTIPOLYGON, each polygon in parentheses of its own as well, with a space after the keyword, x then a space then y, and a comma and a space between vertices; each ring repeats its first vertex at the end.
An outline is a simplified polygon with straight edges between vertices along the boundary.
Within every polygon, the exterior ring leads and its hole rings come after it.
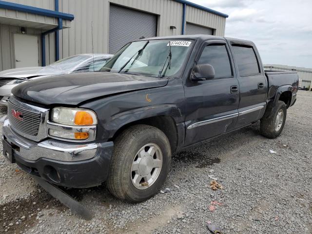
POLYGON ((80 63, 86 61, 87 59, 91 59, 90 55, 74 55, 71 57, 67 57, 65 59, 60 59, 54 63, 51 63, 45 67, 43 67, 39 73, 44 75, 52 74, 69 74, 71 73, 76 66, 80 63))

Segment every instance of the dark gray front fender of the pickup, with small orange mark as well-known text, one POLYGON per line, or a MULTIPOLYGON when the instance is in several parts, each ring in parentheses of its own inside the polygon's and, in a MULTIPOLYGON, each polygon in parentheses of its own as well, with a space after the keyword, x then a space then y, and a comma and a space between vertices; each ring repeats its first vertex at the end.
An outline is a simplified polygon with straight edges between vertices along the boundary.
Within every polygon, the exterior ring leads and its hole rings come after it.
POLYGON ((173 78, 164 87, 100 98, 81 107, 96 112, 97 140, 105 141, 123 126, 149 117, 167 116, 172 117, 176 125, 184 123, 184 88, 181 78, 173 78))

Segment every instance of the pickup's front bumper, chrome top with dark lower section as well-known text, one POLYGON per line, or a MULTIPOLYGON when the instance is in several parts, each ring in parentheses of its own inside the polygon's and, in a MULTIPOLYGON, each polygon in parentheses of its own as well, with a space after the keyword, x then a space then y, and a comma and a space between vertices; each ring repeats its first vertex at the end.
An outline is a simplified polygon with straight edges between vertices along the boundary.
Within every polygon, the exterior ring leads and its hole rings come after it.
POLYGON ((72 143, 56 139, 35 142, 16 134, 5 120, 3 141, 12 146, 12 161, 32 176, 70 188, 87 188, 107 179, 113 142, 72 143))

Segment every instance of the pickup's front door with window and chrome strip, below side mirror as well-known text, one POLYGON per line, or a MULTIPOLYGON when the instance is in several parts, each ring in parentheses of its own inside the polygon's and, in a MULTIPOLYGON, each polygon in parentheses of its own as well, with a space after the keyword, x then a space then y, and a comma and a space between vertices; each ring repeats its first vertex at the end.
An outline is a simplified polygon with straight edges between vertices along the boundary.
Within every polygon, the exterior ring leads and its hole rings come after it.
POLYGON ((238 117, 239 84, 227 42, 206 41, 196 63, 211 64, 215 78, 186 80, 185 146, 233 130, 238 117))

